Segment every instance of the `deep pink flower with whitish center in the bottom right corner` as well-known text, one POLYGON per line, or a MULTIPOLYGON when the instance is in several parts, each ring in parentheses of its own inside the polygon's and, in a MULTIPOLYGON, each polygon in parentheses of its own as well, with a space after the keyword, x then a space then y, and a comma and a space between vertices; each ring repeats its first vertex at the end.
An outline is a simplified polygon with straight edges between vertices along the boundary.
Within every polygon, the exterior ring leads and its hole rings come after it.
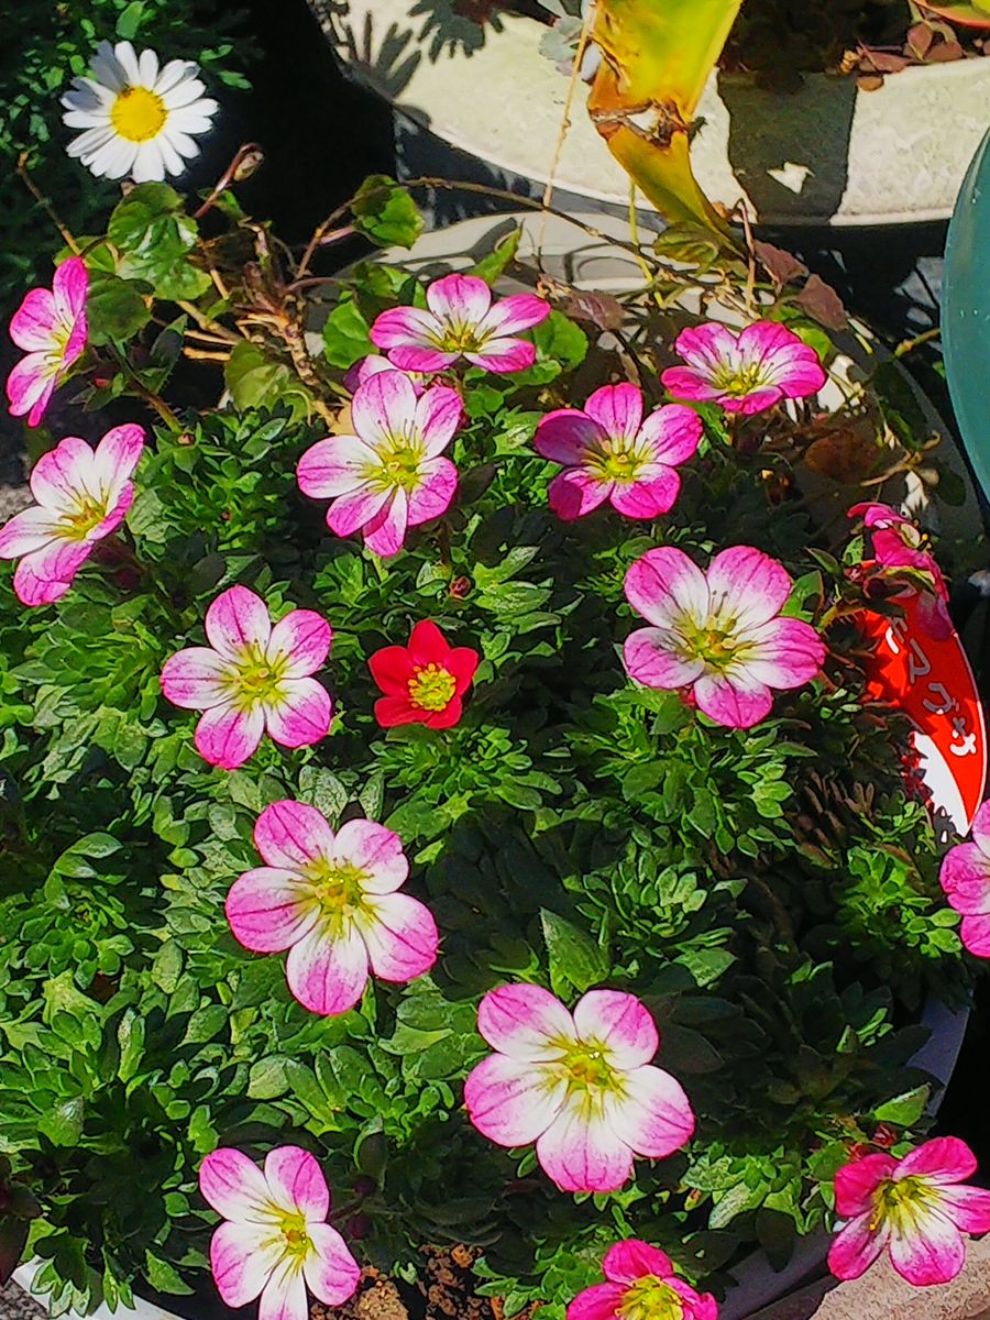
POLYGON ((962 1233, 990 1232, 990 1192, 962 1187, 973 1151, 937 1137, 903 1159, 865 1155, 836 1173, 836 1213, 846 1222, 829 1251, 838 1279, 858 1279, 886 1249, 898 1274, 917 1287, 948 1283, 966 1259, 962 1233))

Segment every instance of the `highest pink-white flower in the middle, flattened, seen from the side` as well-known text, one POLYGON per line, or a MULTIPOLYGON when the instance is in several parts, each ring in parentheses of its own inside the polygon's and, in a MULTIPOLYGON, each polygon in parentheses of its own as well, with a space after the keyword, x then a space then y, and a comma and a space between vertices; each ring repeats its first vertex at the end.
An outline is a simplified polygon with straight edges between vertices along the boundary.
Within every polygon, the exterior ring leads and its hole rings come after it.
POLYGON ((371 327, 371 342, 404 371, 446 371, 463 358, 486 371, 525 371, 536 347, 516 338, 540 325, 549 304, 532 293, 502 298, 473 275, 446 275, 426 289, 426 308, 391 308, 371 327))

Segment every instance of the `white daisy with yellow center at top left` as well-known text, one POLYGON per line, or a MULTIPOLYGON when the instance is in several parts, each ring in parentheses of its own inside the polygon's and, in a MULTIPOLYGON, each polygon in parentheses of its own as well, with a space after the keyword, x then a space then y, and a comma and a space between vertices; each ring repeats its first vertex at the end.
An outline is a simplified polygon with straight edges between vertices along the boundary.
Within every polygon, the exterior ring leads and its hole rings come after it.
POLYGON ((102 41, 88 78, 74 78, 62 96, 69 128, 82 128, 69 144, 94 174, 136 183, 181 174, 199 154, 193 135, 210 129, 215 100, 191 59, 170 59, 164 69, 153 50, 140 57, 129 41, 102 41))

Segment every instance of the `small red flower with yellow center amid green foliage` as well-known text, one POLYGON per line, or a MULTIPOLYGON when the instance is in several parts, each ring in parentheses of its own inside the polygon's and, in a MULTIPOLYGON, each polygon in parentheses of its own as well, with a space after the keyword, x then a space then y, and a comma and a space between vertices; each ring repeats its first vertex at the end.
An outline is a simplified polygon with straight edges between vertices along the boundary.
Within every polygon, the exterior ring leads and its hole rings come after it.
POLYGON ((449 647, 437 624, 424 619, 408 647, 383 647, 368 660, 371 677, 385 694, 375 702, 375 718, 383 729, 450 729, 461 718, 461 698, 479 659, 470 647, 449 647))

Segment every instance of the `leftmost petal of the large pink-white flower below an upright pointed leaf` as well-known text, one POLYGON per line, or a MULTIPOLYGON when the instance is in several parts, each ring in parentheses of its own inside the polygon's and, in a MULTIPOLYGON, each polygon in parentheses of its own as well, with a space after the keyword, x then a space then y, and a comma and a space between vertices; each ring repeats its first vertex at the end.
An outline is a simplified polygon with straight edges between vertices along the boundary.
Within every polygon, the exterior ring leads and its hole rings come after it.
POLYGON ((568 1094, 564 1077, 506 1055, 488 1055, 465 1082, 467 1114, 496 1146, 528 1146, 561 1111, 568 1094))

